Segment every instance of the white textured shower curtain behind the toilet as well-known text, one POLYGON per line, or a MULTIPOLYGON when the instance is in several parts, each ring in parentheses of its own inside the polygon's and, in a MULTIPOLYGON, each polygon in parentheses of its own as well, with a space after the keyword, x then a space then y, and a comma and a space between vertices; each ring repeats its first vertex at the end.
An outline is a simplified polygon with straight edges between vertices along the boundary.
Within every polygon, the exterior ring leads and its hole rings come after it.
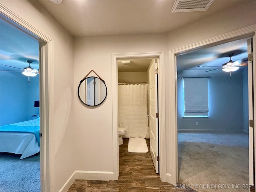
POLYGON ((149 138, 148 84, 118 85, 118 126, 125 138, 149 138))

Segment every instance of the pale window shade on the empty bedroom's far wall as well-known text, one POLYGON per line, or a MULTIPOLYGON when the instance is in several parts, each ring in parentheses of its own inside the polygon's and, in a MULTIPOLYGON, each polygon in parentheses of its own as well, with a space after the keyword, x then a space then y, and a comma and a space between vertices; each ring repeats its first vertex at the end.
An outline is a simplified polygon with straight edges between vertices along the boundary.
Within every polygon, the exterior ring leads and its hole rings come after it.
POLYGON ((184 116, 208 116, 208 78, 184 78, 184 116))

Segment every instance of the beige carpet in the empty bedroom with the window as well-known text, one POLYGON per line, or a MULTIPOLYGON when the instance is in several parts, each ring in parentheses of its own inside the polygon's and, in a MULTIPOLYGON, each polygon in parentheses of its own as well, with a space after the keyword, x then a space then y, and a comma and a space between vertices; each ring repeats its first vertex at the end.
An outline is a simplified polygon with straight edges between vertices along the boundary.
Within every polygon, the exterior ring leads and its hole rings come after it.
POLYGON ((216 144, 216 140, 214 143, 184 140, 183 138, 182 142, 178 142, 180 183, 191 186, 198 192, 249 191, 248 187, 246 188, 246 184, 249 184, 249 158, 246 146, 220 145, 216 144))

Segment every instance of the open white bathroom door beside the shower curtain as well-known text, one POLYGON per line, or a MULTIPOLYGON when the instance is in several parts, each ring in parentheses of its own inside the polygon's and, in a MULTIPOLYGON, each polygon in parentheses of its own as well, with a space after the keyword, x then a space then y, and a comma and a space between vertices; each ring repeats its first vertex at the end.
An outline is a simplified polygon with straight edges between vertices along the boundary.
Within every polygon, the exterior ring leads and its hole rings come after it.
POLYGON ((158 59, 149 69, 149 131, 150 131, 150 153, 156 169, 159 173, 159 156, 158 156, 158 80, 156 70, 158 67, 158 59))

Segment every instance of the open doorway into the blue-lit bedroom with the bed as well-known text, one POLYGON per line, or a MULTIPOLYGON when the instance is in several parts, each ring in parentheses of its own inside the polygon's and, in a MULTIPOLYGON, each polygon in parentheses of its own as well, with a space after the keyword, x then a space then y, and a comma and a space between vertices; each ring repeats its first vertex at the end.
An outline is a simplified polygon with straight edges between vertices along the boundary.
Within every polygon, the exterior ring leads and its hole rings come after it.
POLYGON ((39 38, 0 17, 1 190, 40 192, 39 38))

